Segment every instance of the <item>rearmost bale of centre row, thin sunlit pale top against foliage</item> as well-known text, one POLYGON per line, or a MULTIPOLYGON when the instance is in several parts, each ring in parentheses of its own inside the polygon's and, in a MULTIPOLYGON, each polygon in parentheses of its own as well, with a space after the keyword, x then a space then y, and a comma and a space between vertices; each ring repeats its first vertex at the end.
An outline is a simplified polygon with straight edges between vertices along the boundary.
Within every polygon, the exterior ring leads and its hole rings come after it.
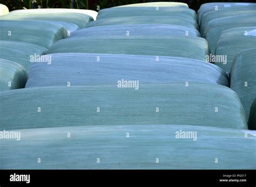
POLYGON ((122 6, 114 6, 113 8, 121 8, 121 7, 172 7, 172 8, 188 8, 186 3, 180 2, 149 2, 149 3, 134 3, 127 4, 122 6))

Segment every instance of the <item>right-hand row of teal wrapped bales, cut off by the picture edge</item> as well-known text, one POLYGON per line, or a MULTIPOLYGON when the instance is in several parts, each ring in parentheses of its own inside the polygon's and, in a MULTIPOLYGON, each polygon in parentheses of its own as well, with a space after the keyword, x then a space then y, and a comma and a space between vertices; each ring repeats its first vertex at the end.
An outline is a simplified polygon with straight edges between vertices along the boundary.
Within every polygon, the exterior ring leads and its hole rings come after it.
MULTIPOLYGON (((211 53, 226 58, 225 62, 214 63, 231 74, 231 89, 238 93, 248 120, 256 97, 256 4, 206 3, 198 16, 201 35, 207 39, 211 53)), ((251 121, 248 126, 255 130, 256 124, 251 121)))

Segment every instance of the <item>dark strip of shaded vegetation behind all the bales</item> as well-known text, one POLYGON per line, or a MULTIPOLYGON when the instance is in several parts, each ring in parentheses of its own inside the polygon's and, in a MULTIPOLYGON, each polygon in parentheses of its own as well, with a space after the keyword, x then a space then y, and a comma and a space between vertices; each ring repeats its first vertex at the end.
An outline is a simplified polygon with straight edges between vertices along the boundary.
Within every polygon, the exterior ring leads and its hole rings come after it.
MULTIPOLYGON (((73 8, 73 9, 90 9, 97 10, 97 5, 100 9, 110 8, 112 6, 133 4, 133 3, 146 3, 146 2, 160 2, 152 0, 0 0, 1 4, 8 6, 9 11, 18 10, 18 9, 37 9, 38 5, 41 8, 73 8)), ((223 0, 178 0, 178 1, 162 1, 162 2, 183 2, 187 3, 191 9, 198 10, 201 4, 210 3, 210 2, 255 2, 255 0, 234 0, 234 1, 223 1, 223 0)))

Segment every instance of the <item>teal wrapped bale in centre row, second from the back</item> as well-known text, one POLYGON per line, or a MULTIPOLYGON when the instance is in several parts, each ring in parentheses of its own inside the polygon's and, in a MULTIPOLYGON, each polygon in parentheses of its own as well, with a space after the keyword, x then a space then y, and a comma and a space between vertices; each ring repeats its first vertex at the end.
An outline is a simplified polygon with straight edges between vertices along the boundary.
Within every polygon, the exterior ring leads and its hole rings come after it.
POLYGON ((119 7, 102 9, 98 12, 97 19, 117 18, 130 16, 177 16, 197 20, 197 13, 192 9, 174 7, 119 7))

